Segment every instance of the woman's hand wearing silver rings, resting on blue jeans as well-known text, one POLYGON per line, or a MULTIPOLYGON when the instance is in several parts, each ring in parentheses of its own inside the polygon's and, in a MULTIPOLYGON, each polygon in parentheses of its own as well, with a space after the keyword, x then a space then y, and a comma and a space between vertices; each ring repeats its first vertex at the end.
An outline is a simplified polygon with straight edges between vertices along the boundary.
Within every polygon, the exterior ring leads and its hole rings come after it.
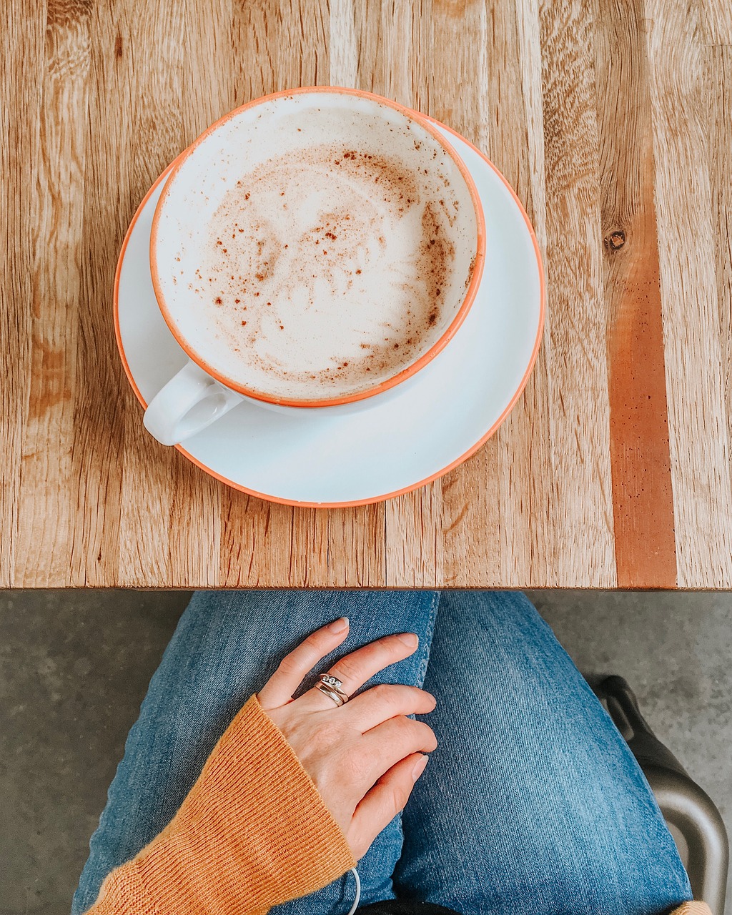
MULTIPOLYGON (((257 695, 260 705, 295 750, 358 860, 387 823, 404 809, 414 782, 437 746, 431 727, 408 715, 425 715, 433 695, 415 686, 378 685, 346 705, 335 705, 317 687, 293 699, 304 677, 348 635, 348 619, 316 630, 285 655, 257 695)), ((412 633, 364 645, 328 671, 353 695, 375 673, 414 653, 412 633)))

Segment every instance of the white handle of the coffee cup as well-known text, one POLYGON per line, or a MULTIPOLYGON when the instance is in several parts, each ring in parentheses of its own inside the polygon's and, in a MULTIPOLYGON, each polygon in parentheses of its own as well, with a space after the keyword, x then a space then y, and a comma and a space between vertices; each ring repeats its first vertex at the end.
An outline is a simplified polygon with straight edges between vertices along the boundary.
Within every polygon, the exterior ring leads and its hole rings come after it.
POLYGON ((158 442, 178 445, 243 399, 242 394, 225 388, 195 362, 188 361, 147 405, 143 423, 158 442))

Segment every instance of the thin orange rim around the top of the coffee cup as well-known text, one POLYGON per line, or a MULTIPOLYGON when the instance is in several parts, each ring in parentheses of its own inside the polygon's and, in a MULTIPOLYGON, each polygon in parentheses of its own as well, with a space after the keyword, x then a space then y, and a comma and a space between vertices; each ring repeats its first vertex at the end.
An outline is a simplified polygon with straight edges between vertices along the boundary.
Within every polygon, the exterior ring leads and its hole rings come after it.
POLYGON ((365 400, 367 397, 372 397, 374 394, 387 391, 390 388, 395 387, 397 384, 406 381, 407 378, 411 378, 421 369, 424 369, 425 365, 432 361, 438 353, 444 350, 447 346, 447 343, 449 343, 449 341, 455 336, 455 334, 458 332, 458 328, 460 328, 465 318, 467 318, 468 311, 470 310, 470 307, 475 301, 475 296, 478 293, 480 281, 483 275, 483 267, 485 264, 486 225, 485 214, 483 213, 483 207, 480 202, 478 188, 476 187, 475 181, 473 180, 473 177, 470 174, 468 167, 463 162, 462 158, 458 156, 458 152, 436 129, 436 126, 434 125, 435 123, 436 122, 434 122, 432 119, 429 119, 427 116, 419 112, 415 112, 412 109, 407 108, 405 105, 399 104, 399 102, 393 102, 391 99, 384 98, 382 95, 377 95, 375 92, 365 92, 361 89, 348 89, 343 86, 303 86, 297 89, 283 90, 282 92, 271 92, 268 95, 263 95, 260 98, 253 99, 251 102, 247 102, 246 104, 240 105, 238 108, 234 108, 231 112, 226 113, 223 115, 223 117, 219 118, 218 121, 210 124, 210 126, 175 159, 173 167, 170 169, 170 173, 166 178, 166 183, 163 191, 157 201, 155 214, 153 215, 152 230, 150 231, 150 274, 153 280, 153 289, 155 290, 157 306, 160 308, 160 312, 165 319, 167 327, 178 342, 178 346, 180 346, 180 348, 186 353, 188 359, 196 362, 196 364, 199 365, 203 371, 206 371, 212 378, 216 379, 217 382, 221 382, 221 384, 223 384, 225 387, 230 388, 231 391, 236 391, 237 393, 241 393, 247 397, 252 397, 254 400, 263 401, 266 404, 278 404, 280 406, 322 407, 337 406, 338 404, 351 404, 356 401, 365 400), (466 186, 468 187, 468 193, 470 194, 473 210, 476 215, 476 253, 470 282, 468 284, 468 288, 466 289, 465 296, 463 296, 460 307, 458 308, 458 311, 455 313, 455 316, 453 317, 448 327, 440 335, 439 339, 437 339, 436 342, 429 348, 429 350, 423 353, 418 360, 414 361, 411 365, 408 365, 401 371, 398 371, 391 378, 380 382, 378 385, 374 385, 373 387, 368 388, 366 391, 333 398, 311 398, 296 400, 287 397, 276 397, 261 391, 255 391, 252 388, 248 388, 245 385, 239 384, 238 382, 235 382, 233 379, 224 375, 221 371, 218 371, 214 366, 210 364, 210 362, 203 359, 199 353, 193 350, 188 341, 179 332, 178 327, 167 307, 165 296, 163 295, 162 285, 159 281, 156 242, 158 224, 162 214, 163 205, 170 190, 171 183, 178 174, 180 167, 188 159, 188 156, 190 156, 193 151, 210 134, 212 134, 215 130, 218 130, 222 124, 226 124, 228 121, 230 121, 231 118, 236 117, 243 111, 263 104, 264 102, 271 102, 274 99, 286 98, 292 95, 321 93, 355 95, 358 97, 371 99, 372 101, 379 102, 380 104, 385 104, 388 107, 393 108, 393 110, 403 114, 404 117, 408 118, 410 121, 416 121, 417 124, 420 124, 420 126, 423 127, 423 129, 437 141, 437 143, 443 146, 448 156, 450 156, 455 162, 463 180, 466 183, 466 186))

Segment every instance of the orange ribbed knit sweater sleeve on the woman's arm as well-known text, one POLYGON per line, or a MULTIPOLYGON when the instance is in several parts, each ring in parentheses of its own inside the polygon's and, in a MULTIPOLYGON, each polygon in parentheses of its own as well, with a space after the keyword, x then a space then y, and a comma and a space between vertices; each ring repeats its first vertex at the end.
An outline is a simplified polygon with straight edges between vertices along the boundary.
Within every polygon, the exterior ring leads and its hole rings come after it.
POLYGON ((356 862, 256 696, 162 833, 102 884, 89 915, 260 915, 356 862))

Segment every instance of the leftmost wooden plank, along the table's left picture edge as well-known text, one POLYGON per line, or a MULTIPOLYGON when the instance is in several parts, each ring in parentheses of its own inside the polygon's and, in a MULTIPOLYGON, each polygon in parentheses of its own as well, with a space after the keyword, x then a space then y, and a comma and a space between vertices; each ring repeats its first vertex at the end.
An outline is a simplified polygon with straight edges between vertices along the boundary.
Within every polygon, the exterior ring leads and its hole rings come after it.
MULTIPOLYGON (((10 4, 0 33, 0 587, 13 587, 24 562, 17 538, 21 455, 30 374, 31 277, 38 263, 33 180, 40 150, 41 88, 47 21, 45 3, 10 4)), ((36 493, 43 502, 43 490, 36 493)))

